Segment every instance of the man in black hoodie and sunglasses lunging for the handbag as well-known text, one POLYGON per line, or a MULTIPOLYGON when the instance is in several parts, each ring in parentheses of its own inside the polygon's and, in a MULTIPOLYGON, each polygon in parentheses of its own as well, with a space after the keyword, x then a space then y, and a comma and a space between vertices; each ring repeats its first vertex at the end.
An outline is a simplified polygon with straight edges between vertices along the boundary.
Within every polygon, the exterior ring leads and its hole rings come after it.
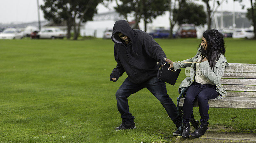
POLYGON ((132 29, 125 20, 118 20, 114 24, 112 41, 115 43, 117 65, 110 74, 110 81, 116 82, 124 71, 128 75, 116 92, 117 109, 123 121, 116 130, 135 128, 127 98, 143 88, 156 96, 178 128, 182 118, 178 116, 177 107, 167 94, 165 82, 157 79, 157 62, 162 65, 166 62, 160 45, 148 33, 132 29))

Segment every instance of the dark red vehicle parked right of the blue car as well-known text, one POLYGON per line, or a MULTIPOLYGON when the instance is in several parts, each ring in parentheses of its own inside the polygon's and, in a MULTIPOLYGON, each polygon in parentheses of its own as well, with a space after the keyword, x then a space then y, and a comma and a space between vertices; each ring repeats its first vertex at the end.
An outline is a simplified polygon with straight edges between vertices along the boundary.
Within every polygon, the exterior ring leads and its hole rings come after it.
POLYGON ((196 28, 194 24, 182 24, 178 30, 179 37, 196 37, 196 28))

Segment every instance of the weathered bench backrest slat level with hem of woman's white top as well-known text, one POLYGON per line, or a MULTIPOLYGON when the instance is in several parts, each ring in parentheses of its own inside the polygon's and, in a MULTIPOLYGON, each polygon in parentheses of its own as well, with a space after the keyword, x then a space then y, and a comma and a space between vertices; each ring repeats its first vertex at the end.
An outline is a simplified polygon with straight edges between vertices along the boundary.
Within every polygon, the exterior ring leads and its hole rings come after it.
POLYGON ((221 84, 256 85, 256 79, 227 79, 221 78, 221 84))

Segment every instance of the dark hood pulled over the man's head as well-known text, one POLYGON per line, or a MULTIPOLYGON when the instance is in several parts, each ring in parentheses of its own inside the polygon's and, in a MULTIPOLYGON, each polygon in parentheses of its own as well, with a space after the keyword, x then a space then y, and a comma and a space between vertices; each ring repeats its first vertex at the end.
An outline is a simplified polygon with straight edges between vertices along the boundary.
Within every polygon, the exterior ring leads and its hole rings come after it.
POLYGON ((121 39, 117 35, 117 32, 123 33, 124 35, 128 36, 128 38, 132 42, 134 42, 133 41, 134 32, 133 32, 132 28, 130 27, 129 23, 126 20, 116 21, 116 23, 114 24, 113 33, 112 33, 112 36, 111 36, 111 39, 112 39, 113 42, 118 43, 118 44, 122 44, 121 39))

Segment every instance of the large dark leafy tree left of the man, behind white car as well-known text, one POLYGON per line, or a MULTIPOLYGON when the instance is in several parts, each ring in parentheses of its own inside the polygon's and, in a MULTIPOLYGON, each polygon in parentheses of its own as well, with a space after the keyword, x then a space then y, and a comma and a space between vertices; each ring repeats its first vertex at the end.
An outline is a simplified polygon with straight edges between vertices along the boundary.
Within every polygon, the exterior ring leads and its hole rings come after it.
POLYGON ((41 9, 44 12, 44 18, 59 23, 62 20, 67 21, 67 38, 70 38, 70 31, 73 27, 76 40, 81 22, 92 20, 96 13, 96 6, 102 0, 44 0, 41 9))

